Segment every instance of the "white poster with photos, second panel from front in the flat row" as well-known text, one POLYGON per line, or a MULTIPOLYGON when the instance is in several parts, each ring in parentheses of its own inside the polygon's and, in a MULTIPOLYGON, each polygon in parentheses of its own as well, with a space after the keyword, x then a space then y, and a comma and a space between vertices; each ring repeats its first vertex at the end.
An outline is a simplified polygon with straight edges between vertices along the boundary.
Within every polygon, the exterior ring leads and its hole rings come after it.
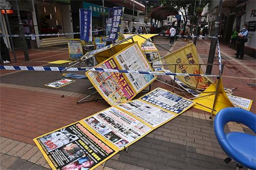
POLYGON ((111 107, 83 120, 119 149, 143 137, 151 128, 129 114, 111 107))

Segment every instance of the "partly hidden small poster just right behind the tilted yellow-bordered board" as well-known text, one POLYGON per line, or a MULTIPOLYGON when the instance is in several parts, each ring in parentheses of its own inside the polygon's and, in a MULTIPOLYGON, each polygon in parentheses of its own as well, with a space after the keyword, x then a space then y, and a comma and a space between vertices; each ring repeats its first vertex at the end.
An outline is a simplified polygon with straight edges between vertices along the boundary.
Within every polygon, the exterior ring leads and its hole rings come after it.
POLYGON ((160 55, 158 53, 158 51, 155 52, 144 52, 147 61, 149 62, 153 62, 152 67, 154 69, 154 71, 162 71, 163 70, 163 66, 162 65, 157 65, 157 64, 162 64, 161 60, 159 60, 160 55))

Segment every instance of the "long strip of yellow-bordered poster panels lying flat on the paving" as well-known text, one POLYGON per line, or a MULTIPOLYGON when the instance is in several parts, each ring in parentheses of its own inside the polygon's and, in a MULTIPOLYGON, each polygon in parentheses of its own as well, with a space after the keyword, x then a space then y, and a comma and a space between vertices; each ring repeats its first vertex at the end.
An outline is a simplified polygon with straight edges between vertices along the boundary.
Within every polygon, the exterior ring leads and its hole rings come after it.
MULTIPOLYGON (((165 96, 163 93, 158 95, 159 92, 176 95, 157 88, 145 96, 165 96)), ((160 98, 155 100, 164 102, 160 98)), ((186 109, 194 104, 191 103, 186 109)), ((52 169, 75 169, 83 162, 87 166, 84 168, 94 169, 179 114, 143 101, 142 97, 102 110, 33 140, 52 169)))

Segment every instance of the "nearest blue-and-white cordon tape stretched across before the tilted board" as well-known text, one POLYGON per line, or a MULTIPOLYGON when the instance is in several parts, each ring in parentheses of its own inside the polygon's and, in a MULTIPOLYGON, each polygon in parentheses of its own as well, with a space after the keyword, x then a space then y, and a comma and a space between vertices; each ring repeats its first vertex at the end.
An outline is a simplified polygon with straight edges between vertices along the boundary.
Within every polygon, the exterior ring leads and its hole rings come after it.
MULTIPOLYGON (((40 66, 10 66, 1 65, 1 70, 31 70, 31 71, 62 71, 66 67, 40 67, 40 66)), ((135 73, 143 75, 171 75, 171 76, 202 76, 202 77, 218 77, 219 75, 199 75, 199 74, 183 74, 183 73, 168 73, 155 71, 134 71, 122 69, 103 69, 103 68, 86 68, 86 67, 71 67, 67 71, 99 71, 99 72, 121 72, 121 73, 135 73)))

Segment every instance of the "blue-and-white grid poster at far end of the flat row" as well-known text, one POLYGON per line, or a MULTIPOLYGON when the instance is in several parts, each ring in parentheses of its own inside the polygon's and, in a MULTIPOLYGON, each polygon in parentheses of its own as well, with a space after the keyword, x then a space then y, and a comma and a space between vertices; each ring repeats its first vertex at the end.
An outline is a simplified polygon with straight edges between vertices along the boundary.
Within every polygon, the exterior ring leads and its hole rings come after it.
POLYGON ((165 110, 180 114, 195 103, 162 88, 156 88, 140 98, 165 110))

